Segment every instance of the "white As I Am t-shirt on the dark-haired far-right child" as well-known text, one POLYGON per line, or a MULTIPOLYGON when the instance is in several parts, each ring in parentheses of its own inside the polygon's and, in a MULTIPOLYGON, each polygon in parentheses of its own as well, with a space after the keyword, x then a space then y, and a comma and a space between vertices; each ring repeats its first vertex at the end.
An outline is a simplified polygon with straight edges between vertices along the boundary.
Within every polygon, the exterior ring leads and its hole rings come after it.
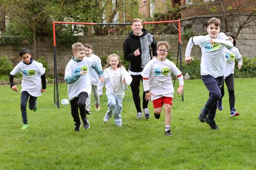
POLYGON ((232 49, 225 48, 225 58, 227 62, 226 62, 226 70, 224 73, 224 79, 226 79, 226 77, 228 77, 230 74, 234 73, 235 58, 237 60, 240 59, 241 54, 236 47, 233 47, 232 49))

